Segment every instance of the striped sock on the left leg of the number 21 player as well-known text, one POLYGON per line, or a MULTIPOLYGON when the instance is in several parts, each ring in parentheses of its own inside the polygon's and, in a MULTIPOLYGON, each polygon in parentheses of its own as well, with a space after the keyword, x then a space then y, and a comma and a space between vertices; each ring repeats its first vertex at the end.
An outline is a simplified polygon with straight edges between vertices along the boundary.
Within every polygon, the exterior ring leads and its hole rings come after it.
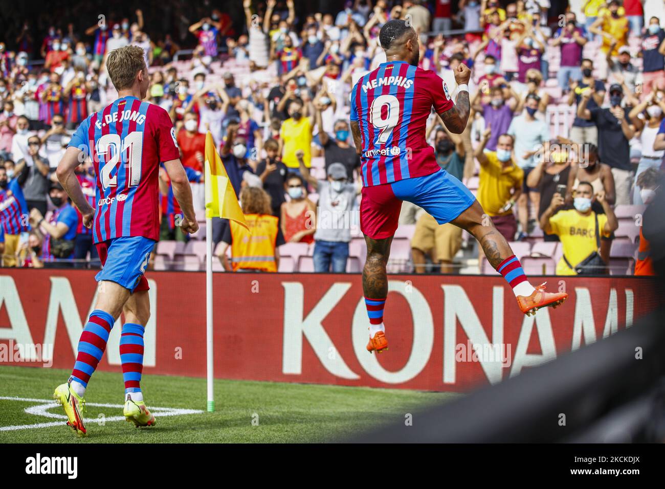
POLYGON ((104 355, 108 335, 111 332, 115 320, 112 315, 105 311, 95 309, 90 313, 81 337, 78 341, 78 353, 76 363, 72 370, 71 387, 74 392, 83 396, 90 376, 97 368, 97 364, 104 355))

